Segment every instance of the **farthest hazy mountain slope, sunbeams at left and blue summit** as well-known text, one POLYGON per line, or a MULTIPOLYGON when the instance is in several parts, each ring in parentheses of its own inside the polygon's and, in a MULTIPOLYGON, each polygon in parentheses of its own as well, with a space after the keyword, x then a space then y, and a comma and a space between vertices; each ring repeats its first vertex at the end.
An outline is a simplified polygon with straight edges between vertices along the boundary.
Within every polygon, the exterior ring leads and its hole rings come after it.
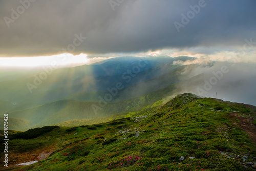
MULTIPOLYGON (((125 80, 122 75, 127 71, 131 70, 138 74, 172 61, 174 61, 172 57, 120 57, 105 60, 101 65, 84 65, 53 71, 49 68, 23 72, 13 71, 11 75, 2 71, 0 77, 9 76, 10 79, 0 79, 0 99, 9 100, 17 106, 34 102, 41 105, 77 93, 106 91, 113 81, 125 80)), ((160 71, 159 74, 161 74, 160 71)), ((143 74, 140 75, 129 85, 141 81, 144 77, 143 74)), ((125 81, 123 81, 124 86, 129 86, 125 81)))

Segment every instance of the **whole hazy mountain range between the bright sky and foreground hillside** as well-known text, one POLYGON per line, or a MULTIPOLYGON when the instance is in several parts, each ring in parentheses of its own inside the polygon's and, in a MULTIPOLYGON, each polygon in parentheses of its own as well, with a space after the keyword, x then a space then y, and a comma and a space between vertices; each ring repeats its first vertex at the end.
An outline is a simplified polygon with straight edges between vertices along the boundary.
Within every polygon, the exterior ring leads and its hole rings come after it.
MULTIPOLYGON (((188 56, 125 56, 74 68, 0 71, 0 114, 8 113, 10 129, 19 131, 135 116, 179 93, 198 94, 212 76, 205 71, 224 65, 232 63, 188 56)), ((242 78, 235 81, 232 88, 246 83, 242 78)), ((221 83, 228 92, 230 86, 221 83)), ((250 98, 256 101, 255 96, 250 98)), ((250 98, 243 102, 254 104, 250 98)))

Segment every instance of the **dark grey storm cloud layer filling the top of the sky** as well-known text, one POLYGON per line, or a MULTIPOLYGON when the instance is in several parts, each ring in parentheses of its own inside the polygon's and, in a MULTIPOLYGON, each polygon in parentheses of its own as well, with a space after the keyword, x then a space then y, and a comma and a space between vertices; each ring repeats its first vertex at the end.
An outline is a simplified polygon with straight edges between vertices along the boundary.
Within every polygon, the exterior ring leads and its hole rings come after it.
POLYGON ((246 38, 256 41, 254 0, 31 0, 30 4, 25 3, 29 7, 24 12, 20 2, 28 0, 0 1, 2 56, 56 54, 74 45, 75 34, 87 38, 75 46, 73 54, 228 48, 243 46, 246 38), (110 2, 116 2, 116 6, 110 2), (186 16, 190 6, 200 3, 200 11, 190 16, 189 23, 184 23, 181 14, 186 16), (18 10, 19 16, 15 16, 13 11, 18 10), (7 17, 12 22, 6 22, 7 17), (179 32, 175 22, 183 25, 179 32))

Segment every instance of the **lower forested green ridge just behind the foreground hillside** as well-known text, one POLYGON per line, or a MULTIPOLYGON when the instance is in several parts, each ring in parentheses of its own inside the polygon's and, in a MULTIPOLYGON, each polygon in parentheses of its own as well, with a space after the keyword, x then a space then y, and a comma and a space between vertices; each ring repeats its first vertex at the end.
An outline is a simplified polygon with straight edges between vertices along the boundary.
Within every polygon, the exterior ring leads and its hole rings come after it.
MULTIPOLYGON (((103 108, 98 102, 84 102, 77 100, 59 100, 56 102, 47 103, 44 105, 18 110, 9 113, 10 118, 25 119, 29 121, 26 125, 9 125, 12 130, 26 131, 31 127, 53 125, 60 123, 60 126, 76 125, 77 120, 80 124, 100 123, 105 120, 113 120, 115 118, 125 117, 130 112, 139 112, 144 110, 151 110, 152 105, 161 105, 164 97, 175 94, 174 86, 170 86, 144 96, 134 97, 124 101, 110 101, 103 108), (160 100, 160 101, 159 101, 160 100), (154 104, 159 101, 157 104, 154 104), (94 112, 92 105, 98 106, 94 112), (72 120, 72 121, 71 121, 72 120), (63 122, 63 123, 62 123, 63 122)), ((101 95, 104 97, 104 94, 101 95)), ((21 121, 20 123, 23 123, 21 121)), ((0 124, 1 126, 1 124, 0 124)))

